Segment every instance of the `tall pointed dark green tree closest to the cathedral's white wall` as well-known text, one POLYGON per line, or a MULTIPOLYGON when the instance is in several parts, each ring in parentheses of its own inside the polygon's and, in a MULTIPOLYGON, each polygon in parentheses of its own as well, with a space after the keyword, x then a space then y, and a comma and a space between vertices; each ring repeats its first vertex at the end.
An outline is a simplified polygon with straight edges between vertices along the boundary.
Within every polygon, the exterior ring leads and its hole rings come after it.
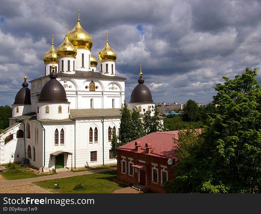
POLYGON ((121 106, 121 119, 120 128, 118 130, 118 140, 120 145, 124 145, 131 141, 132 139, 132 121, 130 110, 128 109, 126 102, 121 106))

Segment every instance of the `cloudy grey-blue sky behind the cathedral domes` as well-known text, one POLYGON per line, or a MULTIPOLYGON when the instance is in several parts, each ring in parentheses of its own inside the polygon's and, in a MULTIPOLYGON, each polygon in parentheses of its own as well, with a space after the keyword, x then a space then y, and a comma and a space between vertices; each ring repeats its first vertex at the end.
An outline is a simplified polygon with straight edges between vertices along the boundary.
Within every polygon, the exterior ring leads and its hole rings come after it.
POLYGON ((78 9, 96 58, 109 32, 116 75, 128 79, 127 102, 142 62, 154 102, 207 104, 222 76, 233 78, 246 67, 257 67, 260 74, 260 8, 260 1, 244 0, 2 0, 0 105, 14 102, 25 67, 29 81, 44 75, 42 57, 52 34, 57 48, 65 26, 71 30, 76 25, 78 9))

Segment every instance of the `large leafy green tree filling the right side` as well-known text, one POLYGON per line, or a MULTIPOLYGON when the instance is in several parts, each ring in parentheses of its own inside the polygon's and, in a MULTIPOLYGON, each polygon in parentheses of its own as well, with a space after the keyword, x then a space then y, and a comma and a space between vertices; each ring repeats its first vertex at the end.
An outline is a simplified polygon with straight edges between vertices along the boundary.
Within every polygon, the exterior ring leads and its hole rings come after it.
MULTIPOLYGON (((167 192, 261 192, 261 85, 256 76, 256 69, 246 68, 216 84, 217 112, 209 114, 209 126, 175 166, 167 192)), ((185 138, 180 141, 186 145, 185 138)))

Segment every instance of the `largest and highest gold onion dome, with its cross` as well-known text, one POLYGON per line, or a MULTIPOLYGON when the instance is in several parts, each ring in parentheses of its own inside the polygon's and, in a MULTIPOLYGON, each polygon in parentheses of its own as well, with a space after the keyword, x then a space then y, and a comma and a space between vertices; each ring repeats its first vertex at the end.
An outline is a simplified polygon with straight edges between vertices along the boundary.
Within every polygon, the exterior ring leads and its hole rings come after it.
MULTIPOLYGON (((78 13, 80 10, 78 11, 78 13)), ((78 14, 78 20, 75 27, 68 33, 68 38, 75 48, 83 48, 91 50, 93 46, 93 38, 87 33, 80 24, 80 18, 78 14)))

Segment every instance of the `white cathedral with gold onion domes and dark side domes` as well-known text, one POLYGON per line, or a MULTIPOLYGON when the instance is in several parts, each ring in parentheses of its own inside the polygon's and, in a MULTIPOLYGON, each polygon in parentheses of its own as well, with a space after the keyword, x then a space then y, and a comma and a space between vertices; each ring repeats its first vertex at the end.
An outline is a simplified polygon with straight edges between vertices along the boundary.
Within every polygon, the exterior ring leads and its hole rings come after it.
MULTIPOLYGON (((116 163, 111 153, 112 132, 120 127, 125 100, 124 77, 117 76, 117 54, 109 46, 108 32, 98 60, 91 48, 93 38, 80 24, 68 32, 57 49, 43 56, 45 73, 27 83, 12 104, 9 127, 0 135, 0 164, 22 162, 40 172, 72 170, 116 163)), ((154 106, 142 78, 128 103, 130 110, 154 106)))

